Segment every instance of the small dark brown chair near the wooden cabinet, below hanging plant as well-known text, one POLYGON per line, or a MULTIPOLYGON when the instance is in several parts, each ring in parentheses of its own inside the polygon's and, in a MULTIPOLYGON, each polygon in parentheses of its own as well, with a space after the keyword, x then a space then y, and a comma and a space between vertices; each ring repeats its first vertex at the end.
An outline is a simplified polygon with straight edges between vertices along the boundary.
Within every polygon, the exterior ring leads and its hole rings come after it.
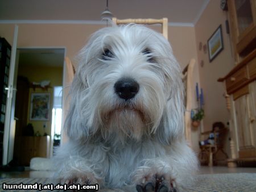
MULTIPOLYGON (((220 123, 220 122, 216 122, 220 123)), ((224 125, 224 124, 223 124, 224 125)), ((228 128, 224 127, 217 127, 214 126, 213 123, 213 131, 205 131, 201 133, 201 136, 205 138, 205 136, 209 136, 210 133, 213 133, 214 135, 214 143, 213 144, 207 144, 207 145, 201 145, 200 146, 200 155, 199 159, 201 163, 208 162, 208 166, 213 166, 213 161, 216 160, 216 154, 218 152, 222 152, 226 158, 228 158, 228 155, 224 151, 224 142, 226 139, 226 136, 228 135, 228 128)), ((204 140, 204 139, 203 139, 204 140)))

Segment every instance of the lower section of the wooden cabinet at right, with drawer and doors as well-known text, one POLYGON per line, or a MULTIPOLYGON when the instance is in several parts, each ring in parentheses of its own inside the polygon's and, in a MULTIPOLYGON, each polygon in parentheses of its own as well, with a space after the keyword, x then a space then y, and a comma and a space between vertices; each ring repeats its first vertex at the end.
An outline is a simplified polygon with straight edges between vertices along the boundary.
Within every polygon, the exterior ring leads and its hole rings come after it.
POLYGON ((230 99, 230 162, 256 162, 256 49, 218 81, 230 99))

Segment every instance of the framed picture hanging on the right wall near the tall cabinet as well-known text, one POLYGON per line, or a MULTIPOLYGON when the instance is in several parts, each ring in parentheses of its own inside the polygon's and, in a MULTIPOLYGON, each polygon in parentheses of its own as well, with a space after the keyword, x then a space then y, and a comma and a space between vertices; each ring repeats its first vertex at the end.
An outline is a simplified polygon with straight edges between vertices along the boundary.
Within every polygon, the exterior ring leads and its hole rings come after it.
POLYGON ((216 31, 210 36, 207 41, 208 44, 208 53, 210 62, 222 51, 224 48, 222 40, 222 28, 221 25, 217 28, 216 31))

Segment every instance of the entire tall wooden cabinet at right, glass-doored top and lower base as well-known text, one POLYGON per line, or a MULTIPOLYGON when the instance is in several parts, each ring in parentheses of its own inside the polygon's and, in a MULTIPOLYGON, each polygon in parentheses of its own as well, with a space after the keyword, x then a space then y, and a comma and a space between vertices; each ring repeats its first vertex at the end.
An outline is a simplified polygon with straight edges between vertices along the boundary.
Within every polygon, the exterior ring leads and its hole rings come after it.
POLYGON ((234 68, 218 79, 226 86, 230 110, 228 166, 256 162, 256 0, 228 1, 234 68))

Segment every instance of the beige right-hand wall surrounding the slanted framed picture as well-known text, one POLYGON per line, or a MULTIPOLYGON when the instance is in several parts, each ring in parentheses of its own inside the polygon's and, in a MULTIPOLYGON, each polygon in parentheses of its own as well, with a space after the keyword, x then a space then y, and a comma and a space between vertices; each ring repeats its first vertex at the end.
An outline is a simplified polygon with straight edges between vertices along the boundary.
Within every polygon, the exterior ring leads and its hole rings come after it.
MULTIPOLYGON (((220 9, 220 2, 211 0, 195 25, 196 47, 199 63, 204 62, 203 67, 199 66, 200 84, 204 91, 205 118, 204 131, 212 130, 212 124, 217 121, 227 123, 229 112, 226 109, 224 98, 224 84, 217 82, 217 79, 224 77, 234 66, 230 36, 226 34, 225 20, 228 13, 220 9), (208 51, 199 51, 199 43, 207 44, 207 40, 222 25, 222 36, 224 50, 212 62, 209 62, 208 51)), ((229 142, 226 140, 226 152, 229 153, 229 142)))

